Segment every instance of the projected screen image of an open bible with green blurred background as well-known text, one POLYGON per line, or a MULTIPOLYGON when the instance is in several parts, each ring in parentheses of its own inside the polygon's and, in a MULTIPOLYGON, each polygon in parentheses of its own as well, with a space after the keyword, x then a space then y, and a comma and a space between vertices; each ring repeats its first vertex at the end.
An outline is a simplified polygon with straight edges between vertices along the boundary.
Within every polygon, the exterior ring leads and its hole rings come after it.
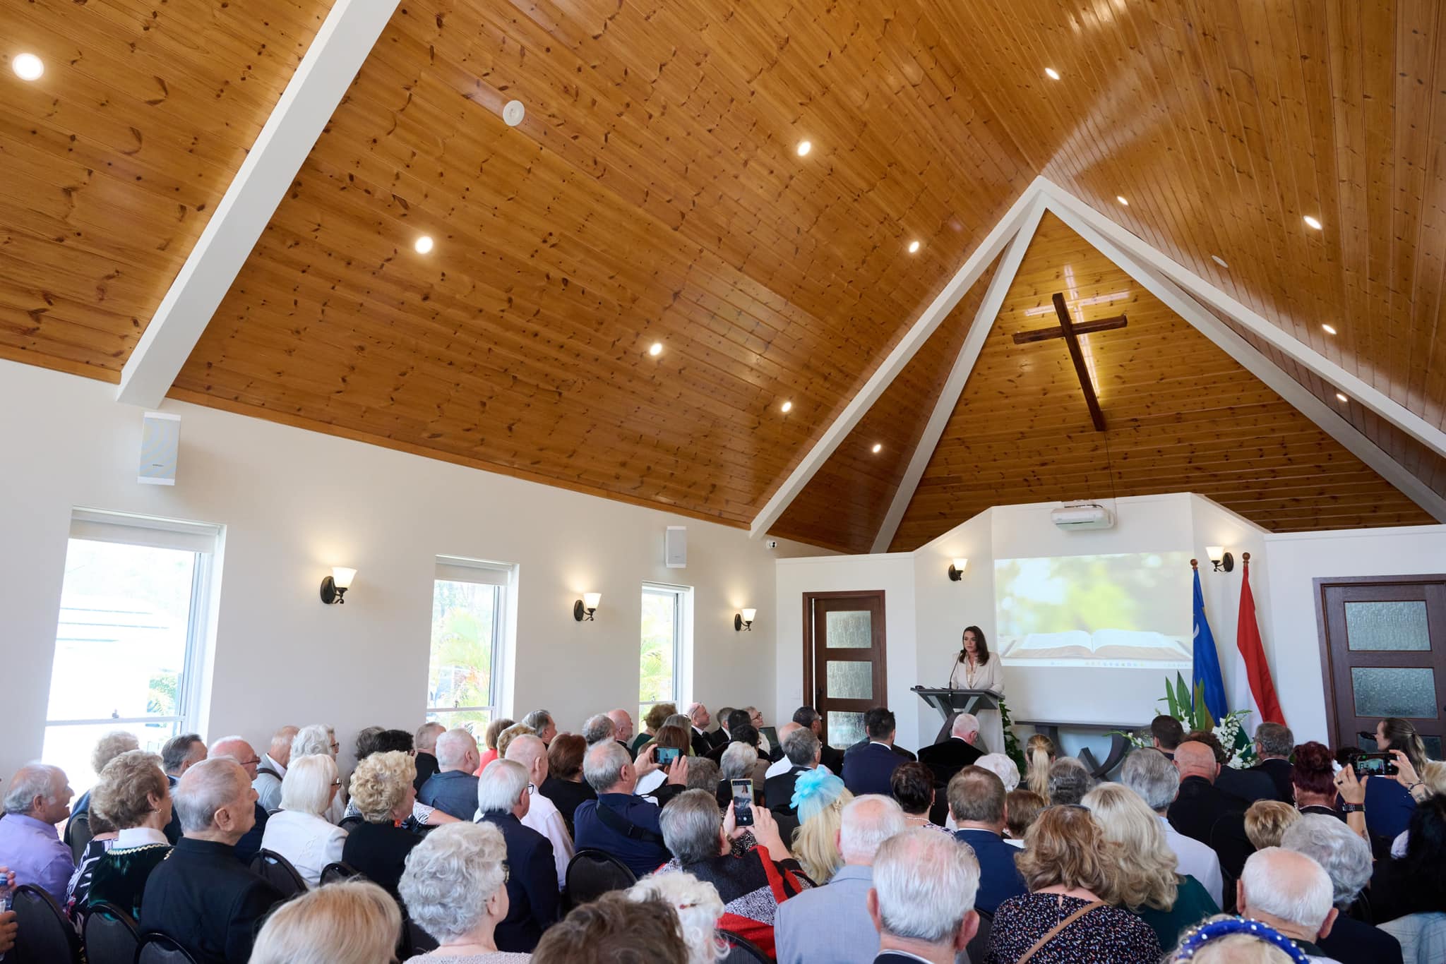
POLYGON ((1190 669, 1190 555, 995 561, 1005 666, 1190 669))

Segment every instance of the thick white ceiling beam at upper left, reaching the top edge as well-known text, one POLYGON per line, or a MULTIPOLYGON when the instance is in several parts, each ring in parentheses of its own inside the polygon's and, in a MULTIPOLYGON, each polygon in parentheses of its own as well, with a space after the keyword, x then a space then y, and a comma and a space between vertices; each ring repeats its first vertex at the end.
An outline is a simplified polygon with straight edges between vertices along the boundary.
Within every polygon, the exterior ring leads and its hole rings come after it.
POLYGON ((155 408, 171 390, 276 205, 399 0, 335 0, 191 256, 120 373, 117 399, 155 408))

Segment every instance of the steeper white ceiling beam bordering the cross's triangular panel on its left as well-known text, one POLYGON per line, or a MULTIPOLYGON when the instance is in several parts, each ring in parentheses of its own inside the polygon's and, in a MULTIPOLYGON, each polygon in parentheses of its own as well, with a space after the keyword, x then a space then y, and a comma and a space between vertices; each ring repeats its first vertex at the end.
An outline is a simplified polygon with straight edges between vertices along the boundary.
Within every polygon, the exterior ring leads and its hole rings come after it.
POLYGON ((1034 233, 1040 227, 1040 218, 1044 217, 1044 199, 1032 185, 1028 194, 1034 197, 1034 202, 1030 205, 1024 224, 1019 225, 1018 233, 1014 236, 1014 241, 1009 243, 1009 250, 1005 251, 1004 260, 999 262, 999 267, 989 282, 989 291, 985 292, 983 301, 979 302, 979 311, 975 312, 975 319, 969 325, 964 344, 960 345, 959 357, 954 358, 954 367, 949 371, 949 380, 944 382, 944 389, 938 393, 938 400, 934 402, 934 413, 930 415, 928 423, 924 426, 924 434, 914 447, 914 455, 910 458, 908 468, 904 470, 904 478, 899 480, 899 487, 894 493, 889 512, 884 516, 884 525, 879 526, 879 532, 873 538, 873 552, 889 551, 894 533, 898 532, 899 523, 904 522, 904 512, 908 509, 908 503, 914 499, 914 491, 918 489, 918 480, 924 477, 924 468, 928 467, 928 460, 934 457, 934 448, 944 434, 944 426, 949 425, 949 418, 954 413, 959 396, 964 392, 964 383, 969 382, 969 374, 975 370, 979 353, 983 351, 985 341, 993 330, 993 322, 999 315, 999 308, 1004 305, 1005 295, 1009 293, 1009 286, 1014 285, 1014 276, 1019 273, 1019 263, 1024 260, 1024 253, 1030 249, 1030 241, 1034 240, 1034 233))

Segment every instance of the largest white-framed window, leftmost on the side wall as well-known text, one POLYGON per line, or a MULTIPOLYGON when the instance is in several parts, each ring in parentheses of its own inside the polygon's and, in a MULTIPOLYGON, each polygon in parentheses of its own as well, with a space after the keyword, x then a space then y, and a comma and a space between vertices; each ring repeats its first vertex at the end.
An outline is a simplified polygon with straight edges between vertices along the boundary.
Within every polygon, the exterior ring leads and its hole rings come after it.
POLYGON ((65 551, 42 759, 77 793, 111 730, 159 752, 195 728, 220 526, 77 509, 65 551))

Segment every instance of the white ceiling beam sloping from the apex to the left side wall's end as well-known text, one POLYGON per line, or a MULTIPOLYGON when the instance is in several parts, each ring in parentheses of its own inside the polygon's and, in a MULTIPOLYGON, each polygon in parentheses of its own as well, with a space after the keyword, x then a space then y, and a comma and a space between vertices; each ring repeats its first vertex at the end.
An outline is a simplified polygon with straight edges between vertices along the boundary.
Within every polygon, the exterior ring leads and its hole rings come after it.
POLYGON ((784 515, 784 509, 788 507, 808 480, 813 478, 814 473, 829 461, 833 451, 839 448, 844 436, 853 431, 853 426, 859 423, 859 419, 869 410, 869 408, 884 395, 884 390, 889 387, 889 383, 904 370, 904 366, 910 363, 914 353, 923 347, 928 337, 938 330, 949 312, 954 309, 964 293, 973 286, 979 276, 985 273, 985 269, 993 263, 993 259, 999 256, 1004 246, 1009 243, 1009 238, 1015 236, 1019 230, 1019 224, 1024 223, 1025 215, 1030 211, 1034 197, 1037 194, 1035 185, 1025 188, 1024 194, 1015 199, 1009 210, 1005 212, 999 223, 993 225, 993 230, 985 236, 985 240, 979 243, 979 247, 964 260, 964 266, 944 285, 944 289, 938 292, 938 296, 930 302, 928 308, 918 317, 918 321, 908 330, 902 340, 894 345, 894 351, 884 360, 884 364, 875 370, 869 380, 865 382, 859 393, 844 406, 843 412, 833 421, 833 425, 814 442, 814 447, 808 449, 803 461, 794 467, 794 471, 788 474, 784 484, 779 486, 774 494, 769 497, 763 509, 753 517, 753 525, 749 526, 749 535, 758 538, 768 532, 768 529, 778 522, 778 517, 784 515))

